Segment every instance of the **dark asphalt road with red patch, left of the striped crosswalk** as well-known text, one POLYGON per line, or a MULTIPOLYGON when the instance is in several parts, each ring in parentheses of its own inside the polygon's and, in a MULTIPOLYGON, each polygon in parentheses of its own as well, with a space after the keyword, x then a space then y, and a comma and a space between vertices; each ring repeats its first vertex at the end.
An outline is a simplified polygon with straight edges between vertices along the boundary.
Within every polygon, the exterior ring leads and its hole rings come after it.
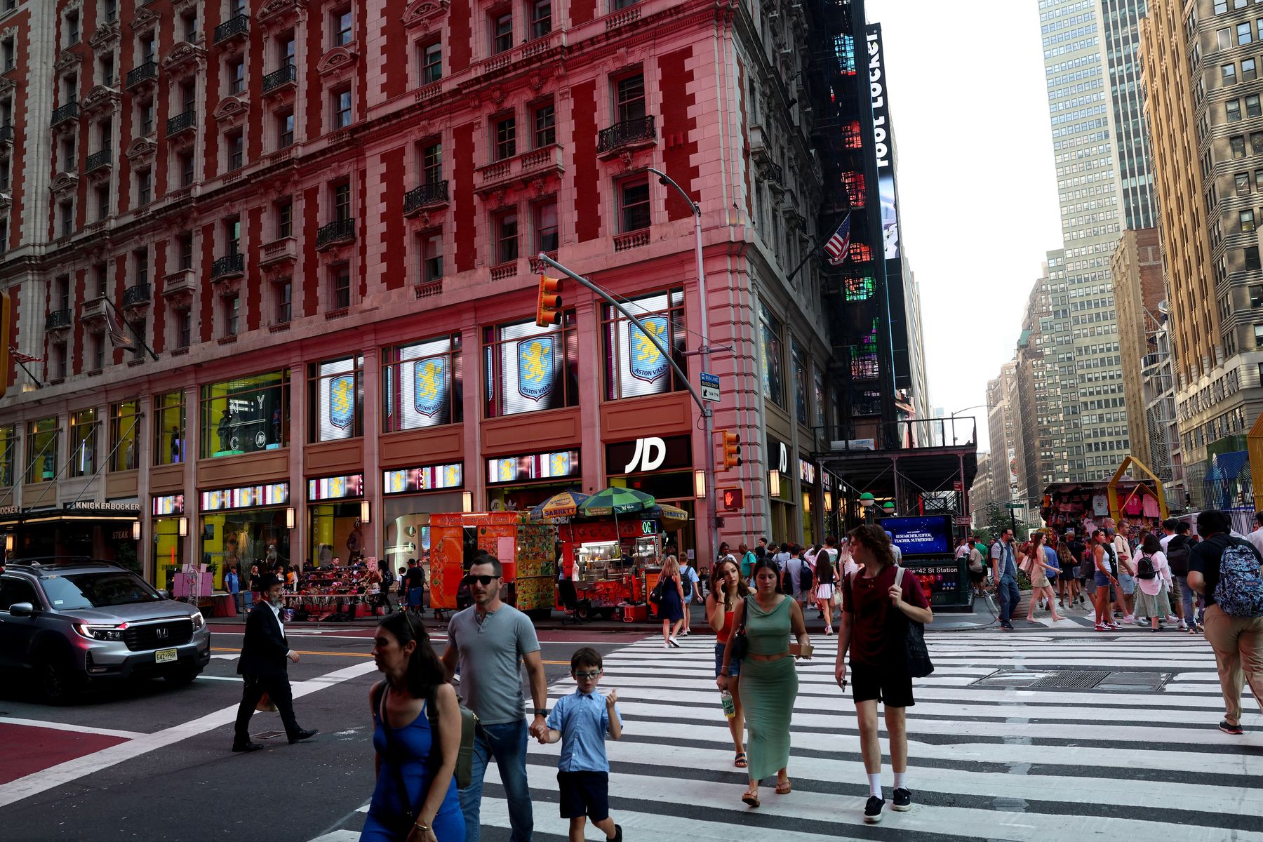
MULTIPOLYGON (((298 721, 321 733, 290 746, 277 715, 256 713, 251 733, 266 749, 248 755, 229 750, 242 630, 216 625, 210 667, 181 688, 153 680, 51 708, 14 682, 0 687, 0 838, 298 842, 345 822, 374 784, 371 629, 287 627, 302 658, 289 669, 303 694, 298 721)), ((643 637, 592 627, 539 634, 549 682, 568 674, 580 645, 610 653, 643 637)))

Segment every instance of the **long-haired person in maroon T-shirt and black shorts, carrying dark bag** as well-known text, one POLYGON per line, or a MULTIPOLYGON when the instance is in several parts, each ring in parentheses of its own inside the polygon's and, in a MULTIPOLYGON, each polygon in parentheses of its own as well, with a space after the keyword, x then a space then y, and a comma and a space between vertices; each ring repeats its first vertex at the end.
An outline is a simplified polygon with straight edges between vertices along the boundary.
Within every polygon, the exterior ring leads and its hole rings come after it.
POLYGON ((846 651, 851 653, 851 697, 859 721, 860 752, 869 779, 864 821, 882 821, 882 746, 877 735, 877 703, 885 706, 894 768, 894 802, 899 812, 912 809, 904 775, 908 768, 906 708, 914 704, 904 644, 908 621, 933 622, 930 601, 911 573, 899 576, 890 539, 880 526, 851 531, 851 555, 860 569, 842 582, 842 622, 837 630, 837 683, 846 687, 846 651), (902 583, 902 587, 901 587, 902 583))

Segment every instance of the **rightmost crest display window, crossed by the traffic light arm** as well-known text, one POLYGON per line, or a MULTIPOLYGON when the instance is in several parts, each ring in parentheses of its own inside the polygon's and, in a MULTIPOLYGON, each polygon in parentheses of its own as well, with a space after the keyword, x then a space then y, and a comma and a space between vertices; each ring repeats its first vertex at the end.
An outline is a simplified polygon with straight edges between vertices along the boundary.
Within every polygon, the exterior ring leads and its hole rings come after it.
MULTIPOLYGON (((685 290, 644 295, 630 303, 628 309, 687 372, 685 290)), ((605 352, 605 400, 658 395, 686 388, 653 340, 609 304, 601 305, 601 342, 605 352)))

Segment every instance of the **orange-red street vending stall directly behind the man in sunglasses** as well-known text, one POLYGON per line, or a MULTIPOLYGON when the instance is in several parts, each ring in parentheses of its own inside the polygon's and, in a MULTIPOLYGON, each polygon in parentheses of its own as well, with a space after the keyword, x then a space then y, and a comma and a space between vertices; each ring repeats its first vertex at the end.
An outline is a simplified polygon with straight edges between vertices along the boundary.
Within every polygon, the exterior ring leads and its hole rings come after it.
POLYGON ((477 550, 500 559, 500 598, 532 619, 547 617, 556 601, 557 528, 524 511, 480 511, 429 516, 429 606, 442 619, 477 550))

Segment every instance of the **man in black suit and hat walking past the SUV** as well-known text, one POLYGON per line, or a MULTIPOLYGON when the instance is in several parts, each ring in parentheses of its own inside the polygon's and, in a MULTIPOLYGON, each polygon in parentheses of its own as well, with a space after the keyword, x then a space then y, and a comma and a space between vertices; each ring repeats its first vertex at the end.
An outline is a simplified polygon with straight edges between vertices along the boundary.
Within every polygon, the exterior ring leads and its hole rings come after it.
POLYGON ((237 674, 245 679, 245 689, 241 693, 241 706, 237 708, 232 751, 263 749, 258 742, 250 742, 250 717, 264 693, 280 711, 280 721, 285 726, 290 744, 316 736, 314 728, 309 731, 299 728, 298 720, 294 718, 294 697, 289 691, 285 659, 297 664, 298 653, 285 643, 285 629, 280 622, 280 592, 284 584, 270 573, 260 578, 259 591, 263 600, 246 617, 241 658, 237 660, 237 674))

